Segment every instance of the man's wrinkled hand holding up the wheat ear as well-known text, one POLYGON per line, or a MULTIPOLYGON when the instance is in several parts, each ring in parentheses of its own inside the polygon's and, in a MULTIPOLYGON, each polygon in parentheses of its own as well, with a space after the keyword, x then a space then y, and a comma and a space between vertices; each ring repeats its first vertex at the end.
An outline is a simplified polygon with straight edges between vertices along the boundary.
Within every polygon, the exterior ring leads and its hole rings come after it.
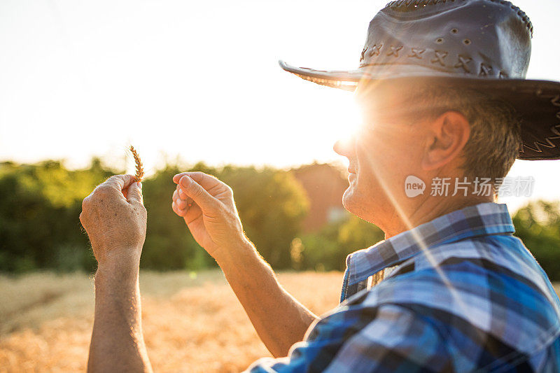
POLYGON ((137 265, 147 222, 141 184, 132 175, 111 176, 85 197, 80 222, 99 265, 137 265))

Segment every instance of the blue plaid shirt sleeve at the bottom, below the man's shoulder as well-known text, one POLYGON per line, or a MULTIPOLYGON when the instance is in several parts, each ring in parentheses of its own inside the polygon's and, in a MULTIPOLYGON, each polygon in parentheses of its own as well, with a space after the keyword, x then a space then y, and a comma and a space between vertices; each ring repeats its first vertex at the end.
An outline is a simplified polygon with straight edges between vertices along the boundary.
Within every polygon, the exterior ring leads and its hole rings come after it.
POLYGON ((343 306, 311 325, 287 358, 262 358, 246 372, 426 372, 451 370, 435 327, 405 307, 343 306))

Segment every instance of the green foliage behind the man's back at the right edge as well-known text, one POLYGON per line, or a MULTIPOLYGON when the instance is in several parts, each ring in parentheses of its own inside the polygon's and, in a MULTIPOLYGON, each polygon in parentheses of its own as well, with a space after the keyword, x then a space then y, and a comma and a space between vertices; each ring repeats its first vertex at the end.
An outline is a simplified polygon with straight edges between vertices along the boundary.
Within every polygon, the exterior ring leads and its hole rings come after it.
POLYGON ((549 279, 560 281, 560 204, 532 202, 513 217, 515 235, 533 253, 549 279))

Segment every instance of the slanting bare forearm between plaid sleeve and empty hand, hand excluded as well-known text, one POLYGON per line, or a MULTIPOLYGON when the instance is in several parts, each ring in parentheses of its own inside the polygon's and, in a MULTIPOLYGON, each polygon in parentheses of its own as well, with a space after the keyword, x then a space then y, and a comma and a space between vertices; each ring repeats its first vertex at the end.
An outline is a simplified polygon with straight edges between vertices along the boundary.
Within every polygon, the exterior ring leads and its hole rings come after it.
POLYGON ((235 257, 218 264, 267 349, 274 357, 286 356, 317 316, 283 289, 249 242, 242 246, 228 250, 235 257))

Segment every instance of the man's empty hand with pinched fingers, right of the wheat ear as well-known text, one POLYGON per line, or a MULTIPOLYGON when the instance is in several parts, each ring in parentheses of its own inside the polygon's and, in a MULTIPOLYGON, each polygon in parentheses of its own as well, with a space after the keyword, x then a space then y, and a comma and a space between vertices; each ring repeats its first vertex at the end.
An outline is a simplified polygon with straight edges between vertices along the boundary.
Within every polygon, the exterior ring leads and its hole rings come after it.
POLYGON ((203 172, 183 172, 173 178, 173 211, 185 219, 195 240, 218 262, 248 243, 232 189, 214 176, 203 172))

